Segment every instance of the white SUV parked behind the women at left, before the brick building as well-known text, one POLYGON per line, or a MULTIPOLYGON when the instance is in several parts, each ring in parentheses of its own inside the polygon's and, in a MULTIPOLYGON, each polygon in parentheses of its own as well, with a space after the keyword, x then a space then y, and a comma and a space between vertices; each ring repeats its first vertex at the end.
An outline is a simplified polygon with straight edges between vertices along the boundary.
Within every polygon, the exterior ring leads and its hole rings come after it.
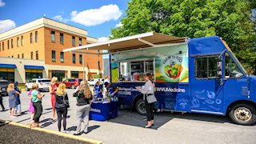
POLYGON ((33 83, 38 83, 38 88, 40 91, 49 91, 50 78, 33 78, 31 82, 26 82, 25 90, 31 90, 33 83))

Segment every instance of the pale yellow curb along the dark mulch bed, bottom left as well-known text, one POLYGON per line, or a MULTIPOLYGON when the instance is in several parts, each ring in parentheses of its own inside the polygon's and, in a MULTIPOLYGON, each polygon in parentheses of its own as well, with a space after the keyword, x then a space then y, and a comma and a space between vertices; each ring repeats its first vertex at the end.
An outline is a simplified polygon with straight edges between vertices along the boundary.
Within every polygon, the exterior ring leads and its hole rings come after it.
POLYGON ((82 141, 82 142, 102 144, 101 141, 97 141, 97 140, 90 139, 90 138, 83 138, 83 137, 75 136, 75 135, 71 135, 71 134, 64 134, 64 133, 61 133, 61 132, 58 132, 58 131, 54 131, 54 130, 47 130, 47 129, 43 129, 43 128, 30 128, 29 126, 26 126, 26 125, 23 125, 23 124, 20 124, 20 123, 16 123, 16 122, 8 122, 8 121, 6 121, 5 123, 13 125, 13 126, 25 127, 25 128, 31 129, 31 130, 42 131, 42 132, 45 132, 45 133, 48 133, 48 134, 55 134, 55 135, 62 136, 62 137, 65 137, 65 138, 73 138, 73 139, 76 139, 76 140, 79 140, 79 141, 82 141))

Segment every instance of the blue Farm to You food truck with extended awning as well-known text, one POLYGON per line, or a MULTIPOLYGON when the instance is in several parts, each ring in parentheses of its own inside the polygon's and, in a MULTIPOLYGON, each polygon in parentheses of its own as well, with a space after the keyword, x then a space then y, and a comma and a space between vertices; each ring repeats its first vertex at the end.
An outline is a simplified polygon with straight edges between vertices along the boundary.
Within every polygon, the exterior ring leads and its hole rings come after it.
POLYGON ((144 85, 147 73, 153 75, 157 110, 229 115, 242 125, 256 122, 256 77, 246 74, 218 36, 190 39, 150 32, 66 51, 82 49, 108 50, 119 105, 139 114, 146 110, 135 87, 144 85))

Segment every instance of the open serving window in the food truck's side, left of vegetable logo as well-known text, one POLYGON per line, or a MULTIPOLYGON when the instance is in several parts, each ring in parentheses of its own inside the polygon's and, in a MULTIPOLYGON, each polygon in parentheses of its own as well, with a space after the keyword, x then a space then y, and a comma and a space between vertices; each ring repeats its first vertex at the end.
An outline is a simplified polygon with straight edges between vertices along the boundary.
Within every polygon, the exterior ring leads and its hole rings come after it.
POLYGON ((144 81, 143 74, 152 74, 154 79, 154 60, 118 62, 119 81, 144 81))

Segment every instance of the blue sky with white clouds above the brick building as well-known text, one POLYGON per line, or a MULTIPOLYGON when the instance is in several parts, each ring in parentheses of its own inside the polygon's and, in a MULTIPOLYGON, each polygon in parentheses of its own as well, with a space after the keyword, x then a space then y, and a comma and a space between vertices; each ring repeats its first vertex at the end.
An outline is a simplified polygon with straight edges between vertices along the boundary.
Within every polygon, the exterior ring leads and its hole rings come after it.
POLYGON ((106 41, 112 28, 122 26, 130 0, 0 0, 0 34, 46 17, 88 31, 106 41))

